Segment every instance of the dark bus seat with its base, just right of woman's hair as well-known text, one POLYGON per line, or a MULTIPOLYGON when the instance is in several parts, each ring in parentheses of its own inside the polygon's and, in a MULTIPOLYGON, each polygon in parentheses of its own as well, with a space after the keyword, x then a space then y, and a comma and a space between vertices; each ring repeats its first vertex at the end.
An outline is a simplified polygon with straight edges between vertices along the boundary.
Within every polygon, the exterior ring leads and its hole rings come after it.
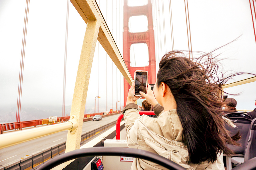
POLYGON ((227 144, 227 147, 232 149, 235 154, 231 157, 226 156, 226 163, 227 163, 227 170, 230 170, 231 164, 234 163, 235 165, 241 164, 244 162, 244 155, 245 155, 245 149, 248 143, 249 139, 249 129, 252 122, 252 118, 249 115, 246 115, 245 113, 235 112, 235 113, 228 113, 225 115, 227 118, 229 118, 231 121, 234 121, 233 123, 236 125, 236 128, 231 127, 230 125, 226 124, 225 128, 230 131, 230 135, 235 135, 238 131, 242 135, 242 138, 238 143, 241 146, 235 146, 231 144, 227 144), (232 163, 231 163, 232 162, 232 163))

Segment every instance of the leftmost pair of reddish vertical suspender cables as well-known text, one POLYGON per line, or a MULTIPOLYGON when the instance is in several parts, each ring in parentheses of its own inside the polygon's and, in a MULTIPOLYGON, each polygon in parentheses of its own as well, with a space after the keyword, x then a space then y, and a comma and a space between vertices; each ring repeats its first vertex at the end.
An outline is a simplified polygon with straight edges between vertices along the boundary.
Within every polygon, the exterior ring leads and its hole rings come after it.
POLYGON ((29 3, 30 3, 30 0, 27 0, 25 16, 24 16, 23 37, 22 37, 21 56, 20 56, 20 72, 19 72, 18 99, 17 99, 17 108, 16 108, 16 122, 20 122, 21 95, 22 95, 22 84, 23 84, 23 73, 24 73, 24 60, 25 60, 24 58, 25 58, 25 49, 26 49, 26 40, 27 40, 29 3))

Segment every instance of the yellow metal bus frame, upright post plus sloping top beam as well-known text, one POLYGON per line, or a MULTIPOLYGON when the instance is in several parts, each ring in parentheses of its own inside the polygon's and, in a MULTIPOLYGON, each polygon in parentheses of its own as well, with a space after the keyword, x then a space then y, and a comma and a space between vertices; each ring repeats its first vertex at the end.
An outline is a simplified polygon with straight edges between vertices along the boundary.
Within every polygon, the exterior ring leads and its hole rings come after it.
POLYGON ((88 91, 92 61, 97 39, 106 50, 112 61, 123 74, 128 83, 132 84, 132 77, 122 58, 120 51, 110 33, 95 0, 70 0, 78 13, 86 22, 86 32, 77 71, 75 90, 71 106, 70 117, 76 116, 78 127, 76 132, 69 130, 66 152, 79 149, 83 115, 88 91))

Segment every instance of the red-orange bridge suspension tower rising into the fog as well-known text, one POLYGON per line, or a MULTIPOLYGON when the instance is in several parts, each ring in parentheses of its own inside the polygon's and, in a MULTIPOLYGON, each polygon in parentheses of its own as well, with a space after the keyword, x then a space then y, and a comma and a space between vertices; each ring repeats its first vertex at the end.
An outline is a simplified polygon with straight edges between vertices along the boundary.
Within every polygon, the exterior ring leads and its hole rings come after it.
MULTIPOLYGON (((148 71, 148 82, 154 84, 156 81, 156 57, 155 57, 155 39, 153 30, 153 19, 152 19, 152 4, 148 0, 148 4, 144 6, 133 6, 127 5, 127 0, 124 0, 124 32, 123 32, 123 57, 128 70, 134 79, 135 70, 146 70, 148 71), (148 19, 148 31, 140 33, 130 33, 128 22, 132 16, 145 15, 148 19), (149 65, 145 67, 131 67, 130 66, 130 47, 135 43, 146 43, 148 46, 149 54, 149 65)), ((126 99, 130 85, 124 79, 124 106, 126 105, 126 99)))

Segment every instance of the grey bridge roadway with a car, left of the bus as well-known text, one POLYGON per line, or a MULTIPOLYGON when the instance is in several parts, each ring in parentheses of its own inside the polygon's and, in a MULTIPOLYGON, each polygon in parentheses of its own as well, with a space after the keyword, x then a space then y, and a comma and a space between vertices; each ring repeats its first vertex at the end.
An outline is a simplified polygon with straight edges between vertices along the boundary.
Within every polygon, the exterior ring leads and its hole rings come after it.
MULTIPOLYGON (((117 120, 118 115, 83 123, 82 134, 117 120)), ((8 132, 11 133, 11 132, 8 132)), ((95 135, 96 136, 96 135, 95 135)), ((0 166, 67 140, 67 130, 0 149, 0 166)), ((90 141, 90 140, 88 140, 90 141)), ((88 142, 85 141, 84 143, 88 142)))

